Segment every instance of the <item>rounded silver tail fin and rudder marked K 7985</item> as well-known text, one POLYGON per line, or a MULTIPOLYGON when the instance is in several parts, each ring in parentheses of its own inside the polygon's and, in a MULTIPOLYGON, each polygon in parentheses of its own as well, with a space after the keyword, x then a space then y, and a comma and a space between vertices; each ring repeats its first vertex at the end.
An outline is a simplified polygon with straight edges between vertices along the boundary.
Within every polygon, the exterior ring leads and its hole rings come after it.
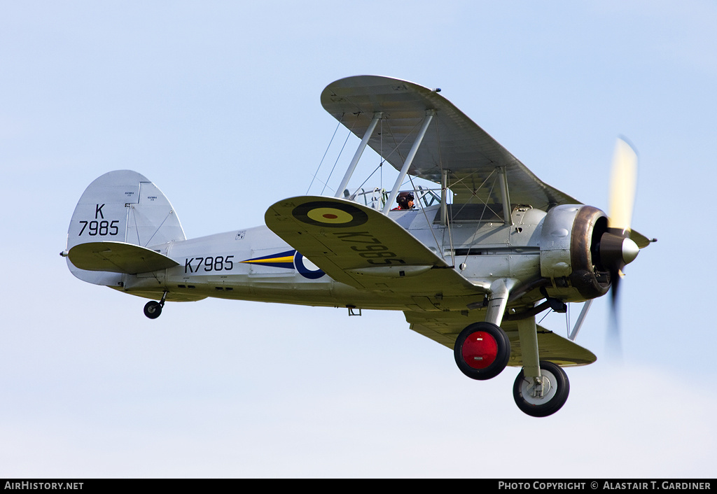
MULTIPOLYGON (((85 189, 70 220, 65 252, 98 242, 152 247, 184 239, 179 218, 158 187, 136 171, 118 170, 85 189)), ((80 280, 97 285, 117 286, 122 280, 119 272, 82 270, 69 258, 67 265, 80 280)))

